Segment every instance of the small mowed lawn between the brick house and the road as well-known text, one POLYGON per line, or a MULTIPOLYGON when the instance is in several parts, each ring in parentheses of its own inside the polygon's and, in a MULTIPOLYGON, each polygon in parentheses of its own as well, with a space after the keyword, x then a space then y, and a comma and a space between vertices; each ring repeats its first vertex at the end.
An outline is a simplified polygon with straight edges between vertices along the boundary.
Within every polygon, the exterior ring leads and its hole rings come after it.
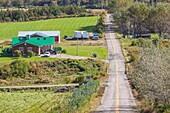
MULTIPOLYGON (((66 54, 76 56, 76 46, 62 46, 62 49, 67 51, 66 54)), ((79 46, 78 56, 92 57, 92 54, 96 53, 97 58, 106 59, 107 58, 107 48, 104 46, 79 46)))

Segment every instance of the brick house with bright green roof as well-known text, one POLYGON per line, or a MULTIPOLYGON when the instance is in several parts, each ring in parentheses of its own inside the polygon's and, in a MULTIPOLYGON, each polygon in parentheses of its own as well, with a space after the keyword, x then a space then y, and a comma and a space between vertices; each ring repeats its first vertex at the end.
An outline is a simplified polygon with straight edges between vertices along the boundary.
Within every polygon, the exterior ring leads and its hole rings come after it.
POLYGON ((20 50, 23 55, 27 54, 29 50, 40 55, 49 49, 53 48, 54 37, 16 37, 12 38, 12 53, 15 50, 20 50))

